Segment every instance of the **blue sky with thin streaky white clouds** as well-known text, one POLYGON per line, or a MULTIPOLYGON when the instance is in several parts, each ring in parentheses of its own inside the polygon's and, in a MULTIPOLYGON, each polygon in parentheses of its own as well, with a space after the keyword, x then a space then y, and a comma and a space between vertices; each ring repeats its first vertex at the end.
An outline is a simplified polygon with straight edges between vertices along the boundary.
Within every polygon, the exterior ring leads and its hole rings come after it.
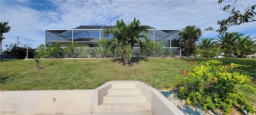
MULTIPOLYGON (((134 17, 142 25, 157 29, 179 29, 189 25, 201 28, 201 38, 217 38, 218 20, 226 19, 229 13, 220 10, 221 6, 234 1, 226 0, 1 0, 0 20, 9 22, 10 31, 4 33, 2 49, 6 45, 29 45, 37 48, 44 44, 46 29, 71 29, 81 25, 111 25, 123 19, 130 23, 134 17)), ((252 6, 256 0, 241 0, 240 5, 252 6)), ((242 10, 242 8, 240 9, 242 10)), ((228 28, 228 32, 239 32, 244 36, 256 37, 256 22, 244 23, 228 28)), ((256 40, 256 38, 254 39, 256 40)))

